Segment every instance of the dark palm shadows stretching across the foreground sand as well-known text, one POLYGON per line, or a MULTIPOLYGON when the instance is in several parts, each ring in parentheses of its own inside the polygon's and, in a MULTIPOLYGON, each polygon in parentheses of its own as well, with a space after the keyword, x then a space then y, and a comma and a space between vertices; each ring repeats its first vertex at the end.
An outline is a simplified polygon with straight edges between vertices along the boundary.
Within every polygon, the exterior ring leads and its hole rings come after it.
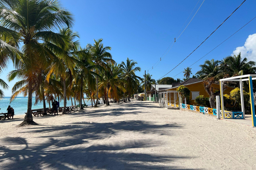
POLYGON ((29 127, 29 131, 23 133, 36 133, 40 136, 38 143, 28 143, 23 137, 0 139, 0 169, 182 169, 165 164, 185 157, 138 153, 139 148, 153 148, 159 145, 153 140, 124 139, 118 143, 90 145, 92 140, 108 138, 121 132, 166 135, 164 131, 171 131, 173 128, 182 127, 175 124, 155 125, 149 121, 78 122, 64 126, 29 127), (48 137, 49 140, 41 143, 42 137, 48 137), (131 150, 134 148, 137 148, 136 153, 131 150))

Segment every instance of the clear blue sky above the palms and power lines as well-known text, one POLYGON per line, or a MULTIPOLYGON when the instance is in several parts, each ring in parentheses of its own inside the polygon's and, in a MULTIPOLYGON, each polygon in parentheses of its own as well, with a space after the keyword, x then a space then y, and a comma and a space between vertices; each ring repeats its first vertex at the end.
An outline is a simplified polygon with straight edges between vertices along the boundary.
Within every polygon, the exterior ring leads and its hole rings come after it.
MULTIPOLYGON (((205 0, 190 25, 174 43, 169 53, 149 73, 158 79, 176 66, 208 37, 243 0, 205 0)), ((88 1, 60 0, 63 6, 75 15, 74 31, 80 34, 80 43, 85 47, 93 39, 103 39, 105 46, 111 46, 113 59, 120 63, 127 57, 138 62, 142 77, 163 55, 175 38, 198 0, 165 1, 88 1)), ((200 0, 185 26, 191 20, 203 0, 200 0)), ((185 67, 208 53, 239 28, 256 16, 256 1, 247 0, 203 45, 201 45, 181 65, 167 76, 173 77, 185 67)), ((256 19, 236 33, 228 41, 216 48, 202 60, 192 66, 195 74, 205 59, 220 60, 233 53, 237 47, 243 47, 249 35, 256 33, 256 19)), ((184 29, 184 27, 183 27, 184 29)), ((256 37, 256 36, 255 36, 256 37)), ((177 38, 177 37, 176 37, 177 38)), ((255 39, 256 40, 256 39, 255 39)), ((255 42, 255 41, 254 41, 255 42)), ((251 43, 250 43, 251 44, 251 43)), ((256 46, 256 44, 254 45, 256 46)), ((241 48, 237 48, 240 50, 241 48)), ((244 48, 243 48, 244 49, 244 48)), ((247 49, 247 48, 246 48, 247 49)), ((237 50, 235 52, 237 52, 237 50)), ((248 54, 250 51, 244 52, 248 54)), ((253 57, 251 57, 254 59, 253 57)), ((1 74, 6 75, 12 65, 1 74)), ((183 78, 179 74, 176 78, 183 78)), ((10 88, 5 96, 11 95, 15 81, 8 83, 10 88)))

